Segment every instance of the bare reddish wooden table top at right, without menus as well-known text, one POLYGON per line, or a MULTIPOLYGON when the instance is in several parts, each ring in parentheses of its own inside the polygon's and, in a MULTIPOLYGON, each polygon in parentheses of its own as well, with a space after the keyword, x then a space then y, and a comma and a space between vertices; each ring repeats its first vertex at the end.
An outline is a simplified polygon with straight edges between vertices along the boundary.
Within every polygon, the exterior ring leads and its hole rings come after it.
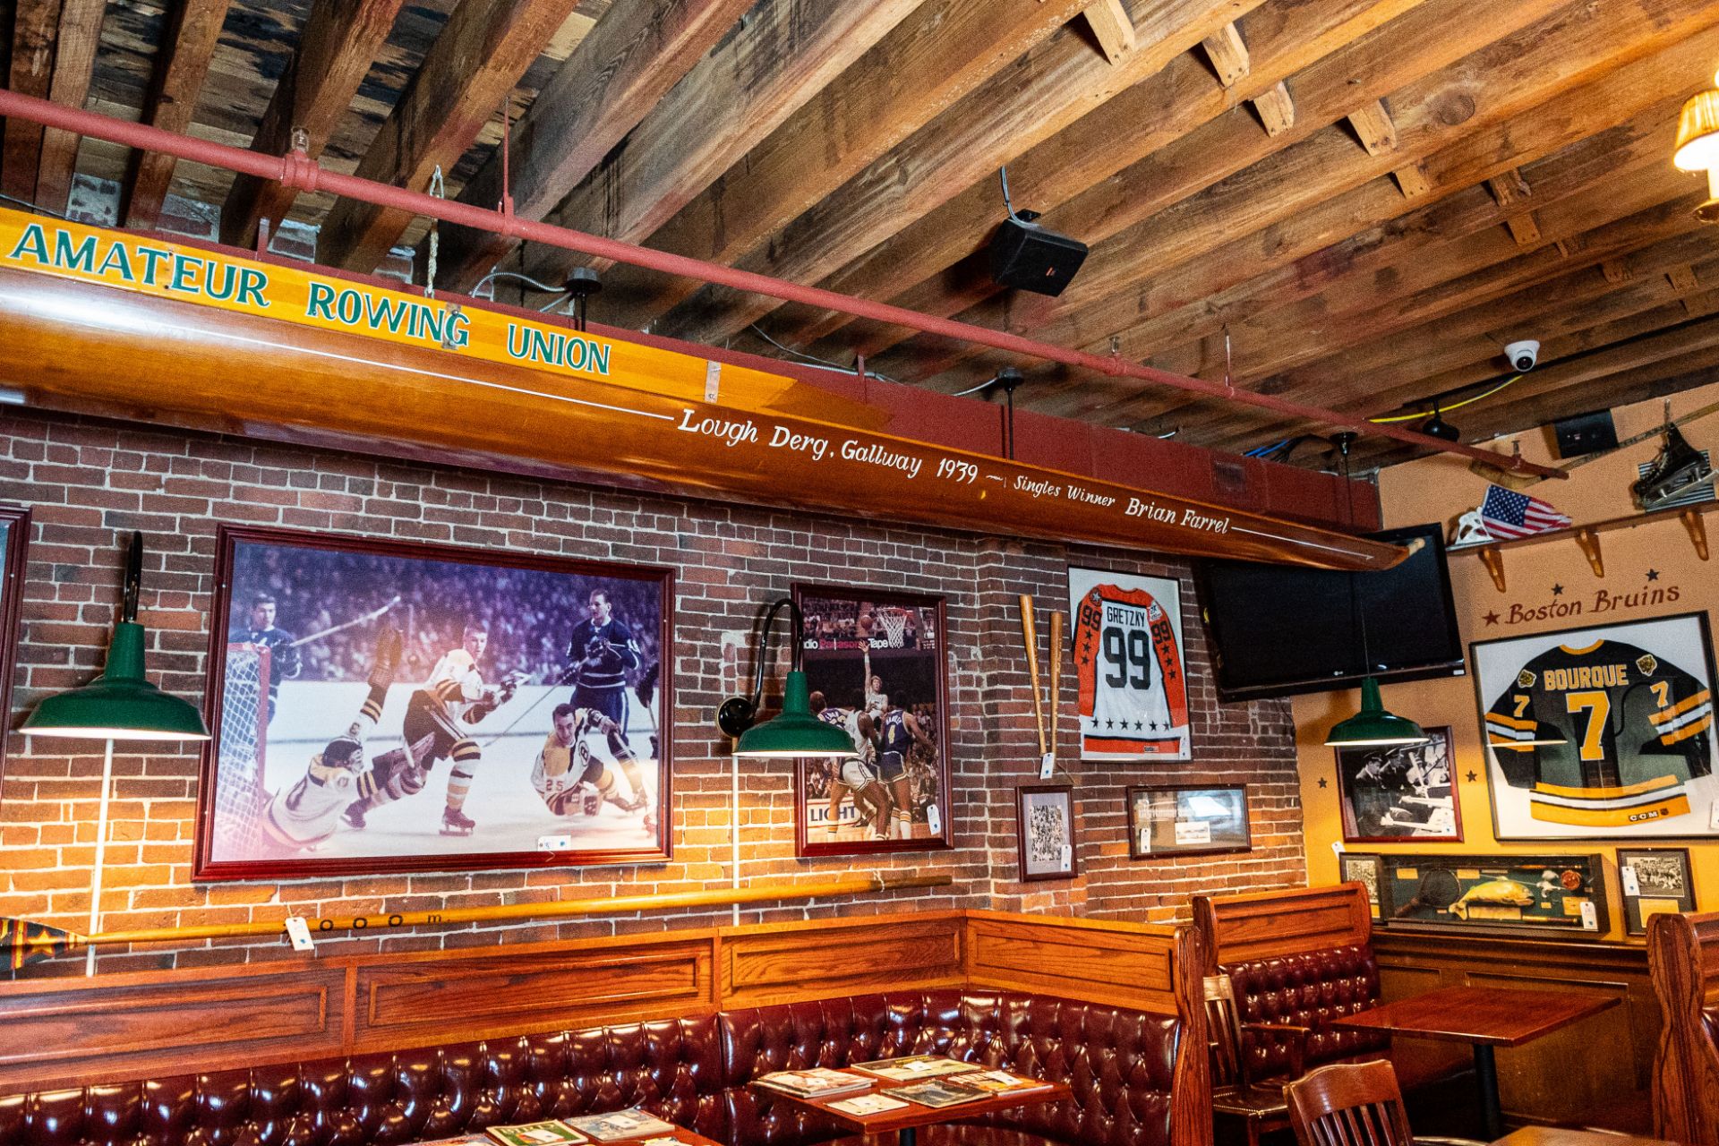
MULTIPOLYGON (((1616 995, 1528 991, 1506 986, 1441 986, 1368 1010, 1332 1019, 1349 1031, 1387 1031, 1413 1038, 1520 1046, 1618 1005, 1616 995)), ((1612 1146, 1624 1146, 1614 1143, 1612 1146)))

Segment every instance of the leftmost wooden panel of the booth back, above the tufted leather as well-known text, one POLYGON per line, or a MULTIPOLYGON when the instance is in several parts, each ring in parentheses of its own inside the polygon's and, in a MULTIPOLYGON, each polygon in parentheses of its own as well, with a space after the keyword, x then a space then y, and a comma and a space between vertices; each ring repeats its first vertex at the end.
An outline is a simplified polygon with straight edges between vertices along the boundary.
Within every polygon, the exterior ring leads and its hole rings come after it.
POLYGON ((0 1093, 335 1055, 347 1007, 347 969, 301 960, 0 983, 0 1093))

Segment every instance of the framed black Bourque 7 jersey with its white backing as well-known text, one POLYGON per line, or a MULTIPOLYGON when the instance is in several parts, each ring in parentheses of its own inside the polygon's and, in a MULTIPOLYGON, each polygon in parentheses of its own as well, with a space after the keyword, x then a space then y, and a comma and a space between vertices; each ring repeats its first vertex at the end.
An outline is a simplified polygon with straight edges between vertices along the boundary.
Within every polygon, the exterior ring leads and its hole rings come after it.
POLYGON ((1705 613, 1470 646, 1499 840, 1719 837, 1705 613))

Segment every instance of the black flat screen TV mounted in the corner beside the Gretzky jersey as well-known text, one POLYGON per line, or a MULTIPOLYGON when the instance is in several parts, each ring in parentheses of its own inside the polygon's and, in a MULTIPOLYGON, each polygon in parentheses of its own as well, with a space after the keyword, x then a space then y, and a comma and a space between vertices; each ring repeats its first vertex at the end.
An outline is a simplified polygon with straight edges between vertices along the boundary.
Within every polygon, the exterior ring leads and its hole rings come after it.
POLYGON ((1196 564, 1200 617, 1222 699, 1348 689, 1368 675, 1380 680, 1463 675, 1444 531, 1427 524, 1368 536, 1422 545, 1382 572, 1196 564))

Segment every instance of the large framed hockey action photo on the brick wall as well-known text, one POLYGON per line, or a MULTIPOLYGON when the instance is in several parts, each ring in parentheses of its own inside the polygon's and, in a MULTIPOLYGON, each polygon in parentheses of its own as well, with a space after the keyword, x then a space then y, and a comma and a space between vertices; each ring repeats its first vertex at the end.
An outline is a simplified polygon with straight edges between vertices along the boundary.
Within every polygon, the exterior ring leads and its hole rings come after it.
POLYGON ((669 857, 667 569, 222 526, 198 880, 669 857))

